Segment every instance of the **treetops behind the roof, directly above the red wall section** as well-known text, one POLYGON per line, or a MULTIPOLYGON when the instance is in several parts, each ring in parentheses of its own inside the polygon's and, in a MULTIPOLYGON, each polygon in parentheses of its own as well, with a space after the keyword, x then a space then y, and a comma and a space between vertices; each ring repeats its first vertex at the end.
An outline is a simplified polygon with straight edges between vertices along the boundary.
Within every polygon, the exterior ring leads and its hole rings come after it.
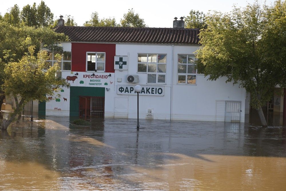
POLYGON ((91 19, 84 23, 86 27, 117 27, 115 18, 103 18, 99 19, 98 13, 93 12, 91 14, 91 19))

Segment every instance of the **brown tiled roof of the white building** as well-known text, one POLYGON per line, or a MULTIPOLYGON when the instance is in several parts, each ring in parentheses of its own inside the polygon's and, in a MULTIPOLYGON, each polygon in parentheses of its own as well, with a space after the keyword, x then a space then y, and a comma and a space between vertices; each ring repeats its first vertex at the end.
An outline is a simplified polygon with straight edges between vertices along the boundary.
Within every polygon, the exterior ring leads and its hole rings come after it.
POLYGON ((198 44, 199 29, 58 26, 71 41, 198 44))

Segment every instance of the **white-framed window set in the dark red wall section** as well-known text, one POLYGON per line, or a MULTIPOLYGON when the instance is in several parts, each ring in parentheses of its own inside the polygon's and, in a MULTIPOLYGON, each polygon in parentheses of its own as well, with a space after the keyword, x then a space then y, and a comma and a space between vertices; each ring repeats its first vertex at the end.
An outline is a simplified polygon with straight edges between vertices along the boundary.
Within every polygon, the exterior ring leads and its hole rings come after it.
POLYGON ((86 53, 86 71, 104 72, 105 52, 86 53))

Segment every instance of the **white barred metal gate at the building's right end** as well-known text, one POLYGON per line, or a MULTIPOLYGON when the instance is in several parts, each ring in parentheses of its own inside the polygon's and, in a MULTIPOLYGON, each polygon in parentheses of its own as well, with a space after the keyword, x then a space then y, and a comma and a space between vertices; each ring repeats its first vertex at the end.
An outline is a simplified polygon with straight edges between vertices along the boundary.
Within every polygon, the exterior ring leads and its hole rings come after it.
POLYGON ((241 101, 225 101, 225 122, 240 122, 241 101))

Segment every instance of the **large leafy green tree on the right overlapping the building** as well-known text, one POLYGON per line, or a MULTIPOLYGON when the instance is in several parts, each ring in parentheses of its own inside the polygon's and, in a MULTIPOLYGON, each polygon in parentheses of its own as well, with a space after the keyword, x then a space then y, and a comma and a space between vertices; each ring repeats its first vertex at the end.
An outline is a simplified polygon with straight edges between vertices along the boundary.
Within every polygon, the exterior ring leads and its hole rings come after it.
POLYGON ((209 80, 227 77, 251 93, 263 126, 261 106, 273 97, 275 86, 286 87, 286 3, 258 3, 234 8, 229 14, 215 12, 206 17, 201 30, 201 48, 196 57, 205 66, 209 80))

